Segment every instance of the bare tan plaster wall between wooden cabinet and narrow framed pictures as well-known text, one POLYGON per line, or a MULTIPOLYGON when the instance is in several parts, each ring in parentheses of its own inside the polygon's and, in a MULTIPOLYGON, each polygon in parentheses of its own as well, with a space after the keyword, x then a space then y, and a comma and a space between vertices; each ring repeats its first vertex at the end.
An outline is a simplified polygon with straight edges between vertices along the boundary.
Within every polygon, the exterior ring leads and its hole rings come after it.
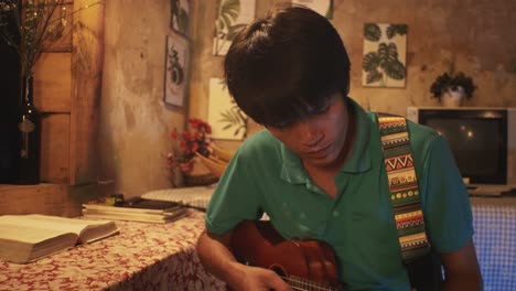
POLYGON ((106 1, 99 179, 128 196, 169 186, 169 132, 184 125, 162 101, 169 10, 166 0, 106 1))

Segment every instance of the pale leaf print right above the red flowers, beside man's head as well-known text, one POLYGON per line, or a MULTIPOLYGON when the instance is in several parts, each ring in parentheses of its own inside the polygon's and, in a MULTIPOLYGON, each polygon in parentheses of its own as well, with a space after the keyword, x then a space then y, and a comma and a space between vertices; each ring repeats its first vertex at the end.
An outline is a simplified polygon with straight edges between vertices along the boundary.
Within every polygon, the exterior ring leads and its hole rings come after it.
POLYGON ((224 80, 209 78, 208 123, 212 125, 212 138, 241 140, 247 136, 247 120, 224 80))

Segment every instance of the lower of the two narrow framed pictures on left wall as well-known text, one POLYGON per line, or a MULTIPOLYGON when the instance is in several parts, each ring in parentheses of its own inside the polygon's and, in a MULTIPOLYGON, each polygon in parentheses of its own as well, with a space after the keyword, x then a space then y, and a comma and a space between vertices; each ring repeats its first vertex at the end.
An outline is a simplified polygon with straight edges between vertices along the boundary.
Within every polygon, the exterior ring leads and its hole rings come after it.
POLYGON ((190 42, 171 31, 166 36, 164 103, 182 107, 190 75, 190 42))

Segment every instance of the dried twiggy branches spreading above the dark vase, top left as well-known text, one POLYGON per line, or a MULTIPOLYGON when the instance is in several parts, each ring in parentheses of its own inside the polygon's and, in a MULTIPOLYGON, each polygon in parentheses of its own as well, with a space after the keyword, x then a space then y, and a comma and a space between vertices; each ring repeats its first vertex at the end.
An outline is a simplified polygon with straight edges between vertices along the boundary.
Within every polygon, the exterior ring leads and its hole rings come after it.
MULTIPOLYGON (((79 8, 78 12, 92 6, 79 8)), ((32 67, 55 41, 60 40, 67 25, 68 11, 65 0, 0 0, 0 39, 17 50, 22 65, 22 75, 32 74, 32 67), (8 30, 14 23, 17 32, 8 30)))

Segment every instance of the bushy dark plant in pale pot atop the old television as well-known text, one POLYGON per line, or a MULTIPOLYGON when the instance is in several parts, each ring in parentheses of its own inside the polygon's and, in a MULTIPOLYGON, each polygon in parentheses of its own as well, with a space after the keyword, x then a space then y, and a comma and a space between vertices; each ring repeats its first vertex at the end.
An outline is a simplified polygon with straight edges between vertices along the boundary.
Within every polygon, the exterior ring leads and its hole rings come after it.
POLYGON ((463 72, 454 72, 453 63, 450 71, 439 75, 430 87, 430 93, 444 106, 460 106, 464 98, 473 97, 476 89, 473 78, 463 72))

